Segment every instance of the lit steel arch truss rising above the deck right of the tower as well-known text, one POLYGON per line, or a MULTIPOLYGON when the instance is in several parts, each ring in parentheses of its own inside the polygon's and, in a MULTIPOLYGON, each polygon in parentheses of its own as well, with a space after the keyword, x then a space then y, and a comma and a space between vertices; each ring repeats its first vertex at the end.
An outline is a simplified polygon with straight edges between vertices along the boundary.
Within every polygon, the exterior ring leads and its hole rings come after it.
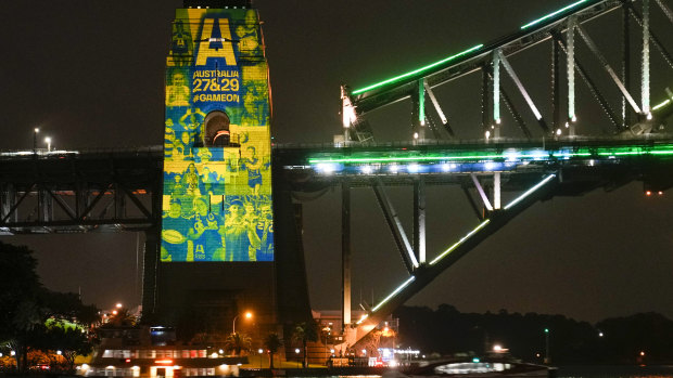
MULTIPOLYGON (((650 44, 663 56, 664 61, 673 68, 671 54, 666 51, 661 39, 650 29, 650 13, 659 9, 661 13, 673 24, 673 12, 663 0, 655 0, 658 6, 650 6, 650 0, 588 0, 575 2, 567 9, 551 13, 530 24, 523 25, 517 32, 499 38, 490 43, 480 44, 468 49, 417 70, 399 75, 384 80, 380 83, 351 90, 350 87, 342 87, 342 114, 343 128, 346 143, 372 143, 373 132, 367 123, 367 138, 353 138, 359 135, 357 130, 360 125, 366 123, 365 115, 371 110, 379 109, 385 105, 394 104, 407 99, 411 100, 411 133, 410 140, 423 143, 428 140, 449 138, 458 139, 455 125, 449 126, 450 114, 441 105, 440 99, 434 93, 439 86, 448 83, 457 78, 472 73, 482 73, 482 129, 483 139, 487 143, 490 140, 498 140, 501 136, 501 115, 500 102, 510 112, 516 125, 523 132, 525 138, 532 138, 529 127, 519 109, 515 107, 511 96, 505 92, 500 84, 500 67, 505 68, 507 76, 511 79, 515 88, 524 100, 529 110, 533 114, 541 132, 545 136, 554 138, 574 138, 575 135, 586 135, 587 132, 577 129, 577 115, 575 112, 575 74, 586 83, 589 92, 605 110, 609 121, 612 123, 610 133, 631 132, 633 134, 652 132, 652 125, 656 118, 665 117, 650 105, 650 44), (650 9, 651 8, 651 9, 650 9), (586 31, 584 24, 604 16, 613 11, 621 10, 623 13, 622 22, 622 62, 621 69, 618 71, 608 62, 601 52, 601 43, 592 39, 586 31), (630 17, 634 18, 640 26, 640 64, 635 67, 631 63, 631 34, 630 17), (598 61, 604 70, 608 74, 619 96, 623 99, 621 117, 618 118, 615 112, 609 105, 606 96, 598 89, 596 78, 589 75, 585 65, 577 55, 577 41, 575 36, 584 42, 589 52, 598 61), (524 80, 517 74, 516 67, 510 64, 509 58, 526 49, 538 43, 551 41, 551 58, 549 62, 549 73, 551 80, 549 97, 541 101, 534 99, 526 90, 524 80), (561 56, 561 53, 564 56, 561 56), (562 60, 562 57, 564 57, 562 60), (566 71, 562 74, 560 63, 564 61, 566 71), (638 73, 632 73, 632 68, 637 68, 638 73), (634 95, 631 76, 639 76, 640 91, 639 103, 634 95), (566 83, 563 83, 563 79, 566 83), (566 99, 561 97, 561 87, 567 89, 566 99), (426 97, 430 99, 432 106, 426 106, 426 97), (541 112, 542 108, 551 109, 551 118, 545 119, 541 112), (567 109, 567 116, 561 116, 561 108, 567 109), (439 133, 437 127, 433 121, 430 108, 433 108, 440 117, 445 133, 439 133), (635 114, 637 123, 633 125, 632 115, 635 114), (621 118, 621 119, 620 119, 621 118), (427 132, 427 129, 433 133, 427 132), (351 131, 351 132, 348 132, 351 131), (434 136, 434 138, 433 138, 434 136)), ((612 94, 610 92, 610 94, 612 94)), ((668 97, 664 93, 657 93, 659 97, 668 97)), ((671 107, 671 106, 669 106, 671 107)), ((520 138, 520 135, 511 135, 520 138)), ((381 140, 379 135, 379 140, 381 140)))

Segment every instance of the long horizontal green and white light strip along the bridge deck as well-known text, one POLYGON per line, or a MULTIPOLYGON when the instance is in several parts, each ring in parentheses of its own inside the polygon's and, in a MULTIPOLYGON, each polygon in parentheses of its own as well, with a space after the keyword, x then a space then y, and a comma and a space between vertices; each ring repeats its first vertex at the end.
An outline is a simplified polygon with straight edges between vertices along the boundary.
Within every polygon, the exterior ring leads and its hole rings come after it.
POLYGON ((466 152, 460 155, 429 155, 429 156, 382 156, 382 157, 335 157, 309 158, 308 164, 389 164, 389 162, 431 162, 456 160, 520 160, 520 159, 562 159, 571 157, 591 156, 642 156, 642 155, 673 155, 673 145, 659 146, 626 146, 626 147, 582 147, 574 152, 563 151, 523 151, 521 153, 505 152, 501 154, 486 152, 466 152))

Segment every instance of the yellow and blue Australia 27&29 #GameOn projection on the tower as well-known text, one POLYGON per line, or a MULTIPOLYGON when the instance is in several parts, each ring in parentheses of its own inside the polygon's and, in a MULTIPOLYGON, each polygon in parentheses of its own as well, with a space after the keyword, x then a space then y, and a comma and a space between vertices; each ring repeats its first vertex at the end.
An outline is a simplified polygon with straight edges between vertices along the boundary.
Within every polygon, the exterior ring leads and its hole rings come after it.
POLYGON ((166 66, 161 261, 272 261, 270 101, 257 11, 177 10, 166 66))

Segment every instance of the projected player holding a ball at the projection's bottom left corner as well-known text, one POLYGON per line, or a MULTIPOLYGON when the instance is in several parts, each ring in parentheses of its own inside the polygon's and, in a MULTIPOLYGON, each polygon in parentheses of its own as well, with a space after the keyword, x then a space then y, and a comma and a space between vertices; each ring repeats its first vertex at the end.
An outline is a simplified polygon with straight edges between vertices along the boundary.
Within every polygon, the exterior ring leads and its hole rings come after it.
POLYGON ((162 219, 162 261, 186 261, 189 220, 182 217, 181 201, 170 197, 168 211, 162 219))

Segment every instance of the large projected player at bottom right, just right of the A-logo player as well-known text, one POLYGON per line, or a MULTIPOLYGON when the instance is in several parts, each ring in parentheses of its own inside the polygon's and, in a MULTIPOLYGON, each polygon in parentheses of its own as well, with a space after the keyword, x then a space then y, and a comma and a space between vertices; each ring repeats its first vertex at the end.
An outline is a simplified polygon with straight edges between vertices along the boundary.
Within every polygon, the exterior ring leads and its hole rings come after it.
POLYGON ((255 225, 245 218, 243 203, 234 199, 229 204, 225 224, 219 229, 225 239, 226 261, 250 261, 250 248, 257 248, 259 238, 255 225))

